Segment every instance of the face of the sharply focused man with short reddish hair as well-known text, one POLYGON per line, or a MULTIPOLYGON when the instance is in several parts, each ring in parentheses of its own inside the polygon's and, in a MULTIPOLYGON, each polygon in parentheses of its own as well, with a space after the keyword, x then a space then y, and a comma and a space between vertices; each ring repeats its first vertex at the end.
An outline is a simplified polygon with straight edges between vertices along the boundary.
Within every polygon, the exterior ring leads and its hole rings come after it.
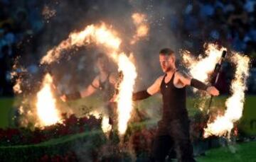
POLYGON ((164 73, 175 69, 174 55, 159 54, 159 62, 161 64, 161 69, 164 71, 164 73))

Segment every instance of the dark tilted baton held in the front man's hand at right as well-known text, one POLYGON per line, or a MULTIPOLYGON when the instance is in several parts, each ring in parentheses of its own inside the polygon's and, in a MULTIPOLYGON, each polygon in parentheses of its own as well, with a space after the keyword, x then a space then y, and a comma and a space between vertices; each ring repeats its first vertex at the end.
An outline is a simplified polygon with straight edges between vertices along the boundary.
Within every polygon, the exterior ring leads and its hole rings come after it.
MULTIPOLYGON (((218 83, 218 79, 220 77, 221 66, 223 64, 223 61, 224 61, 226 55, 227 55, 227 51, 223 50, 220 61, 217 64, 215 64, 215 68, 214 68, 213 73, 216 75, 216 77, 215 77, 215 81, 213 82, 213 86, 215 86, 218 83)), ((207 114, 210 111, 210 105, 211 105, 212 101, 213 101, 213 96, 210 96, 210 102, 209 102, 209 105, 208 105, 207 114)))

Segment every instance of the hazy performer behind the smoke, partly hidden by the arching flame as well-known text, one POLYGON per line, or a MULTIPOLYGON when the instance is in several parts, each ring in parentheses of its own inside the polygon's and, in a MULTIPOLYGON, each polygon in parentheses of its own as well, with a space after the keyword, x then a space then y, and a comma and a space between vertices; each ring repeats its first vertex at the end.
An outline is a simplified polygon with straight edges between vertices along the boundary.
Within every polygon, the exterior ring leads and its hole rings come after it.
POLYGON ((85 98, 91 96, 96 91, 100 91, 100 96, 105 103, 105 108, 107 108, 107 112, 109 115, 109 124, 117 125, 117 117, 116 111, 117 106, 112 100, 112 97, 115 93, 115 85, 117 83, 116 75, 110 70, 110 62, 109 59, 105 56, 105 54, 100 53, 97 55, 96 60, 97 69, 99 69, 99 74, 95 77, 95 79, 90 83, 82 91, 77 91, 75 93, 65 94, 61 96, 61 99, 66 100, 75 100, 78 98, 85 98))

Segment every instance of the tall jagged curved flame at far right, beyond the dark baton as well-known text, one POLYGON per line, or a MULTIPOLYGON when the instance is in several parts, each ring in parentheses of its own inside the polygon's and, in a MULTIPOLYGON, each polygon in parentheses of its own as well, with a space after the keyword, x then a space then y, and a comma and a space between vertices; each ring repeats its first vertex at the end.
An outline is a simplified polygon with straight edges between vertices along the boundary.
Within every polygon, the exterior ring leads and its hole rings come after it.
POLYGON ((242 117, 243 105, 245 102, 246 79, 249 76, 249 62, 247 56, 233 53, 232 62, 236 64, 235 79, 231 83, 231 92, 233 93, 225 102, 227 110, 225 115, 218 116, 215 121, 208 123, 203 137, 227 135, 230 138, 230 132, 233 129, 234 122, 242 117))

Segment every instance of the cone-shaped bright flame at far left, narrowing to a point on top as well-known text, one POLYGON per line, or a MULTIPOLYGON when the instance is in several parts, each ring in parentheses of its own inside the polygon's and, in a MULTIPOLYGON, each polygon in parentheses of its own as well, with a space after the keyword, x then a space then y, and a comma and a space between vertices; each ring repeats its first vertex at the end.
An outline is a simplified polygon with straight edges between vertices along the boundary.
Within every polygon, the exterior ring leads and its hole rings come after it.
POLYGON ((60 121, 60 114, 55 105, 55 98, 51 92, 53 79, 46 74, 43 79, 43 86, 37 93, 37 115, 41 126, 53 125, 60 121))

